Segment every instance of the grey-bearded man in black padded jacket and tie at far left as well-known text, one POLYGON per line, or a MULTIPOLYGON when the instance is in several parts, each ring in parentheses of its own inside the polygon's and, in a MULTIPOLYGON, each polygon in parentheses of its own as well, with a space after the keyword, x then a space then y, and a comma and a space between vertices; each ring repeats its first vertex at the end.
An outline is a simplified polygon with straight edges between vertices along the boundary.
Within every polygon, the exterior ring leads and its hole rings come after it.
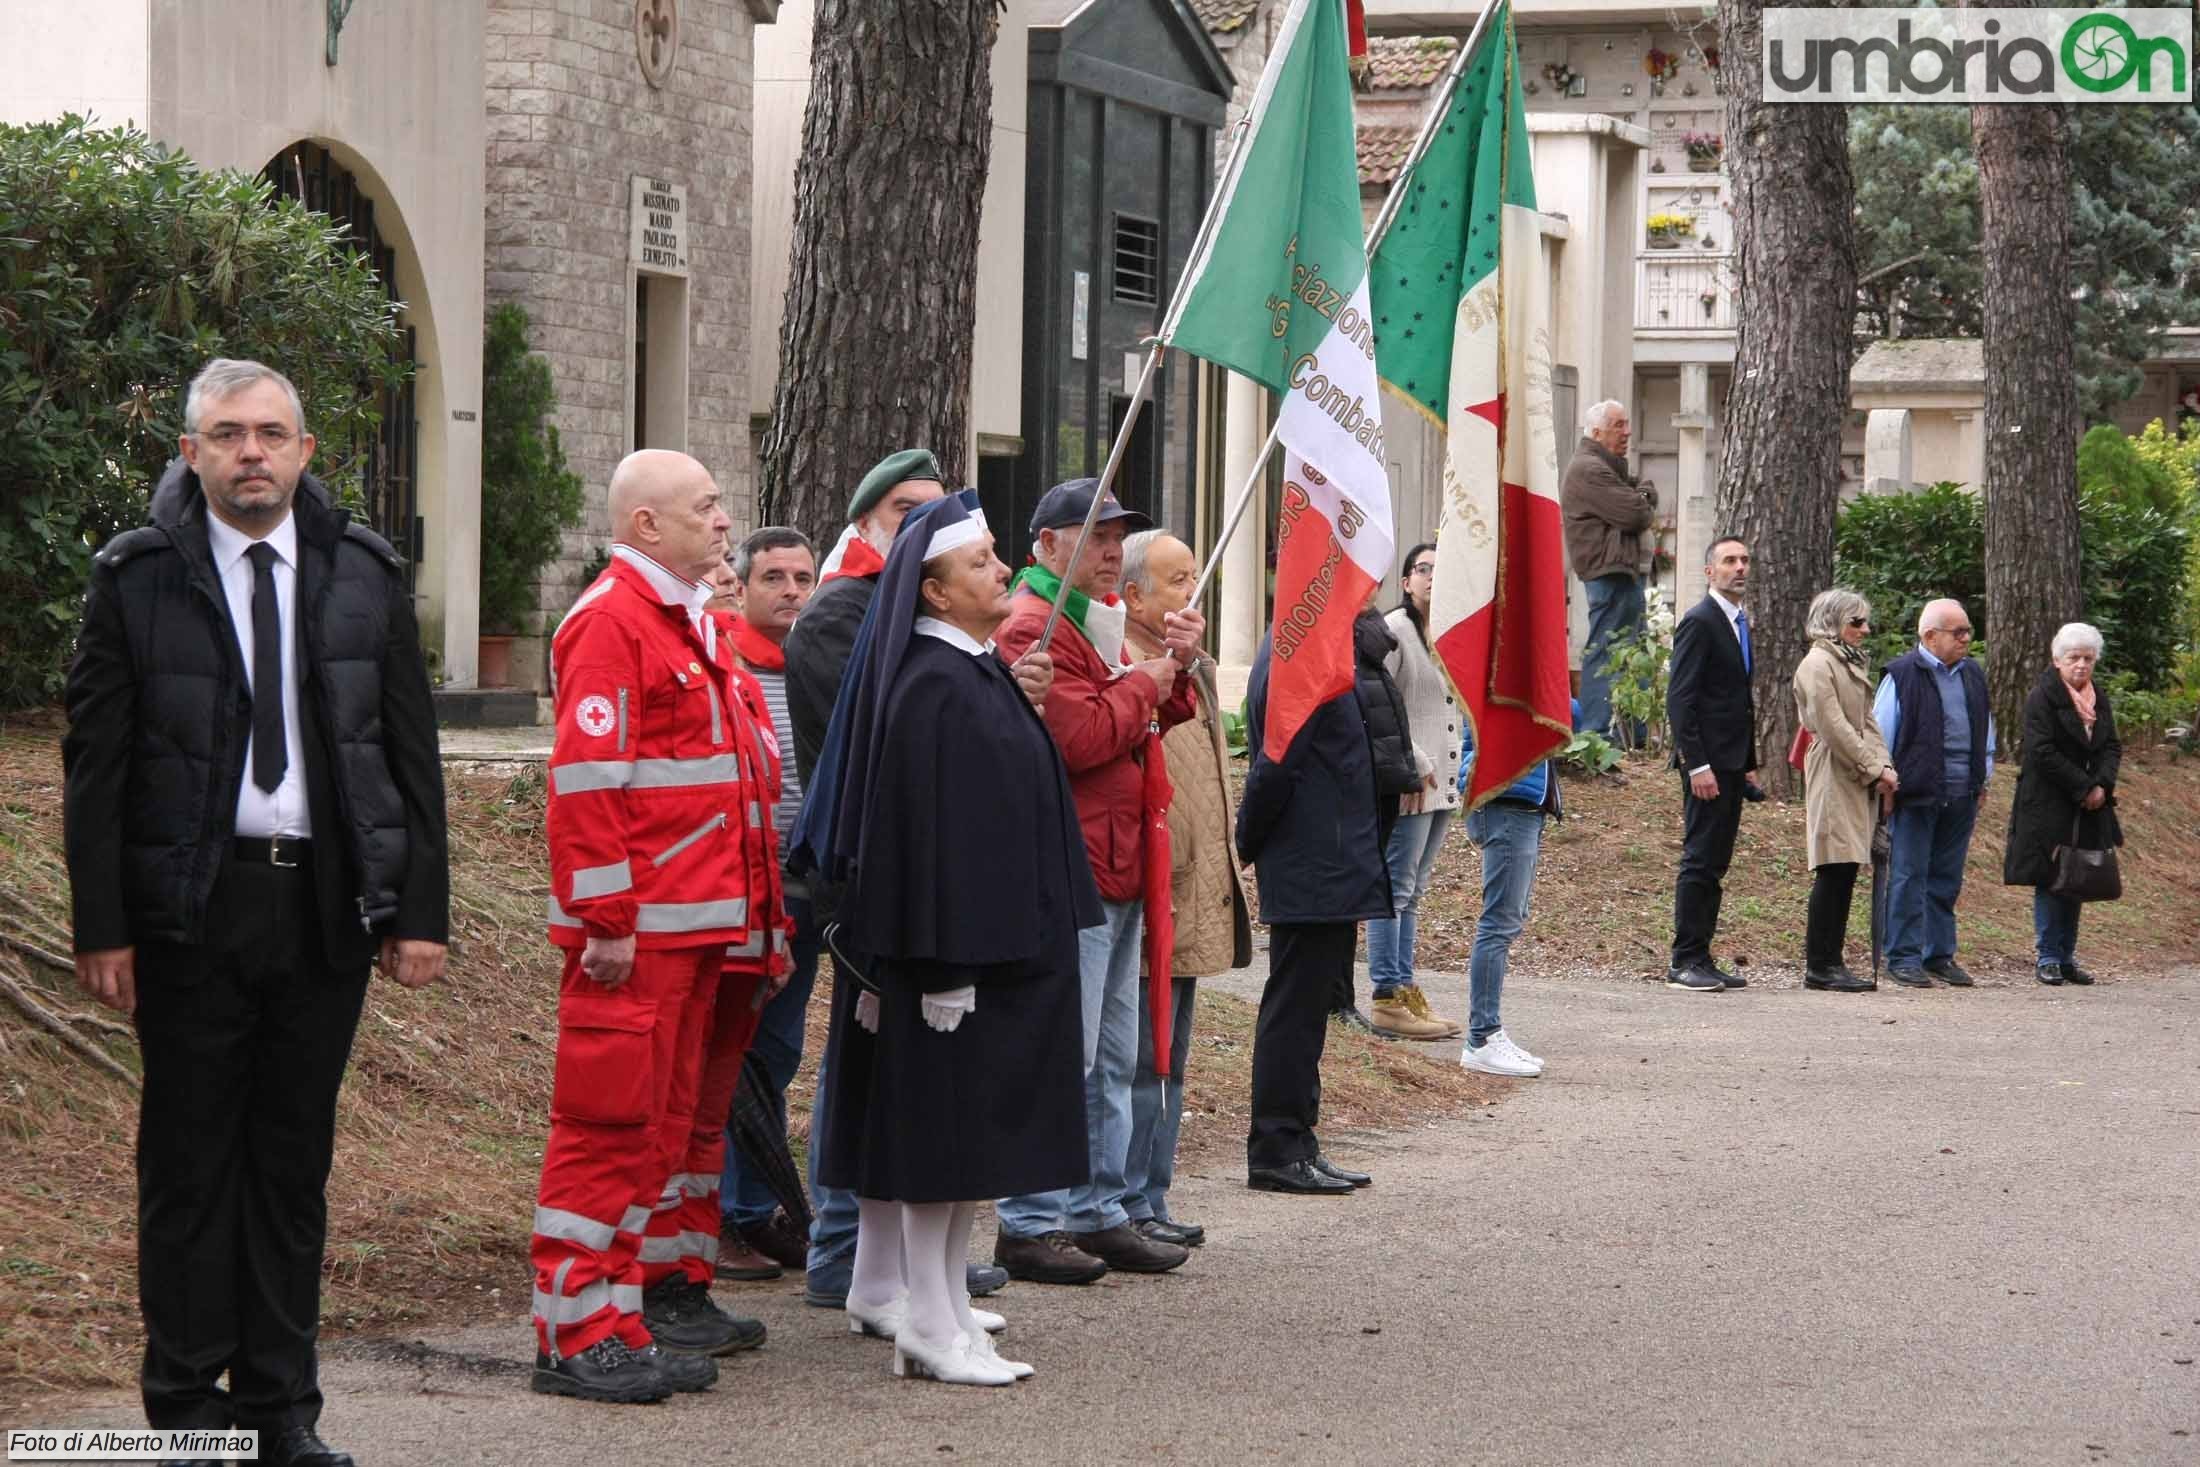
POLYGON ((145 1419, 315 1432, 337 1089, 367 968, 442 974, 442 763, 403 561, 306 473, 297 387, 211 361, 68 671, 77 981, 136 1021, 145 1419), (229 1388, 222 1388, 222 1375, 229 1388))

